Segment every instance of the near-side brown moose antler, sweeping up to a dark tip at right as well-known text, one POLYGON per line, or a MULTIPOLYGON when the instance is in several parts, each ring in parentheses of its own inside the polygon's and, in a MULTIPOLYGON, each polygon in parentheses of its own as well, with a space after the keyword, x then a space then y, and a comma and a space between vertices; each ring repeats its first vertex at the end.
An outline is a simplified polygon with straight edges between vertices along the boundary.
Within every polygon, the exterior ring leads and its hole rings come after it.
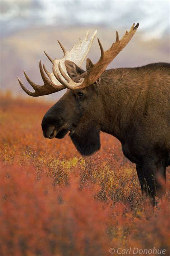
POLYGON ((65 71, 62 69, 62 65, 58 64, 58 68, 60 70, 61 75, 63 76, 63 78, 65 78, 65 80, 67 82, 65 82, 59 72, 55 69, 55 67, 53 66, 53 74, 55 75, 55 77, 57 78, 57 80, 64 85, 66 88, 68 89, 80 89, 80 88, 85 88, 88 87, 89 85, 93 84, 96 82, 96 80, 100 77, 100 75, 104 72, 104 70, 107 68, 107 66, 109 65, 110 62, 113 61, 113 59, 118 55, 118 53, 120 51, 122 51, 122 49, 128 44, 128 42, 131 40, 131 38, 133 37, 134 33, 136 32, 139 23, 136 24, 136 26, 134 26, 135 24, 133 23, 131 29, 128 31, 126 31, 126 33, 124 34, 124 36, 122 37, 121 40, 119 40, 119 35, 118 32, 116 32, 116 41, 115 43, 112 44, 112 46, 109 48, 109 50, 104 51, 103 47, 99 41, 98 38, 98 43, 100 46, 100 50, 101 50, 101 56, 99 61, 96 64, 93 64, 91 62, 90 59, 87 59, 87 62, 89 62, 90 64, 90 68, 88 70, 88 73, 85 76, 85 79, 80 82, 80 83, 75 83, 66 73, 65 71))

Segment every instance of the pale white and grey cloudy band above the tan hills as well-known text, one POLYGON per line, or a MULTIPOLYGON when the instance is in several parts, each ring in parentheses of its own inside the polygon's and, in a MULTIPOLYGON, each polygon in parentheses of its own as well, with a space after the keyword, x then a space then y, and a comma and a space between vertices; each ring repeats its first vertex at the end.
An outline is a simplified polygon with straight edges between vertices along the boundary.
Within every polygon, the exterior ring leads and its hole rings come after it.
POLYGON ((87 26, 127 28, 140 23, 143 39, 170 32, 170 1, 1 0, 1 37, 28 27, 87 26))

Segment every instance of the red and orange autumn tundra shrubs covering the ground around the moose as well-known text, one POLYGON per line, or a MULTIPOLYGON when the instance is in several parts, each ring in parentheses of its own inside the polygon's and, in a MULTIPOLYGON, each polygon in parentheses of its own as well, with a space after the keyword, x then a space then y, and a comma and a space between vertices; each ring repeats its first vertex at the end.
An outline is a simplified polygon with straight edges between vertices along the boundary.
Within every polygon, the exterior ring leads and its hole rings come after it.
POLYGON ((119 247, 169 255, 170 168, 166 195, 146 216, 134 164, 113 136, 101 133, 101 150, 83 158, 68 135, 43 137, 52 103, 10 93, 0 102, 1 256, 107 256, 119 247))

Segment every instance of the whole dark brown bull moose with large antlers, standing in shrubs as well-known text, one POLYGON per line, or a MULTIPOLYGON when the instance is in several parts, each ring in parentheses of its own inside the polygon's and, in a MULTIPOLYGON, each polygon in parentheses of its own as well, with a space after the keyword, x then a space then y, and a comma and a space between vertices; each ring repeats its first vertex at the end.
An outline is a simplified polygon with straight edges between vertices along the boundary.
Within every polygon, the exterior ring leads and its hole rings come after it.
POLYGON ((42 96, 67 88, 67 92, 44 115, 42 130, 45 138, 69 136, 82 155, 100 149, 100 131, 115 136, 122 144, 124 155, 136 164, 142 195, 155 196, 165 192, 166 167, 170 165, 170 64, 154 63, 137 68, 105 70, 131 40, 139 23, 133 24, 121 40, 104 51, 98 39, 101 56, 96 64, 86 60, 86 71, 80 68, 96 31, 88 41, 88 32, 70 52, 59 42, 63 59, 53 60, 50 73, 39 63, 43 85, 25 77, 35 92, 42 96), (48 75, 49 79, 45 75, 48 75))

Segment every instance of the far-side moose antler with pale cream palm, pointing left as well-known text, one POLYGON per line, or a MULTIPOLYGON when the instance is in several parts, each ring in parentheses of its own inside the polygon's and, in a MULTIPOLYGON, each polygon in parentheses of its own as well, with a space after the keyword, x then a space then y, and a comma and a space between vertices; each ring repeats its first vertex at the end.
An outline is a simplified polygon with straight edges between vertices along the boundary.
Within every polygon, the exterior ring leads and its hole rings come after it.
MULTIPOLYGON (((83 40, 79 39, 79 42, 75 45, 73 45, 72 49, 70 51, 67 51, 63 45, 58 41, 58 43, 60 44, 64 56, 62 59, 55 59, 53 60, 45 51, 44 53, 46 54, 46 56, 48 57, 48 59, 52 62, 53 64, 53 70, 55 70, 57 73, 59 73, 59 63, 60 66, 62 66, 62 70, 64 70, 64 72, 67 74, 66 71, 66 67, 65 67, 65 61, 66 60, 70 60, 75 62, 76 65, 81 66, 82 62, 84 61, 85 57, 87 56, 90 47, 94 41, 94 38, 96 36, 97 31, 95 31, 93 33, 93 35, 90 37, 89 40, 88 36, 89 36, 89 31, 87 31, 85 37, 83 40)), ((38 85, 35 84, 34 82, 32 82, 32 80, 29 79, 28 75, 25 73, 24 71, 24 75, 25 78, 27 79, 28 83, 33 87, 33 89, 35 90, 35 92, 30 92, 21 82, 21 80, 18 78, 19 84, 22 87, 22 89, 30 96, 42 96, 42 95, 47 95, 47 94, 51 94, 51 93, 55 93, 55 92, 59 92, 60 90, 65 89, 65 85, 62 85, 60 82, 58 82, 58 80, 56 79, 55 75, 53 73, 48 72, 48 70, 46 69, 46 67, 43 65, 41 65, 41 61, 39 62, 39 69, 40 69, 40 73, 43 79, 44 84, 43 85, 38 85), (43 70, 44 69, 44 70, 43 70), (45 75, 44 71, 46 72, 46 74, 48 75, 49 79, 47 78, 47 76, 45 75)), ((64 82, 62 80, 62 82, 64 82)))

